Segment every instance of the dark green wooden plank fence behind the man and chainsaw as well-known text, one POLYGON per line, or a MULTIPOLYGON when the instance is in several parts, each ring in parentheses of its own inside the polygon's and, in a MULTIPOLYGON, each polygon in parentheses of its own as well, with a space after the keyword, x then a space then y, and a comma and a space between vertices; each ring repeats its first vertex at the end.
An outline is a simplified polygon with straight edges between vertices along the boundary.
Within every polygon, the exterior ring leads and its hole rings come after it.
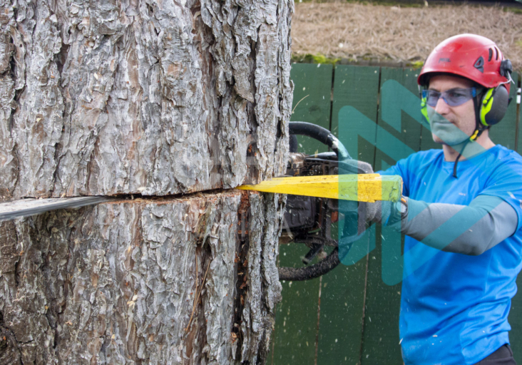
MULTIPOLYGON (((419 70, 373 66, 337 66, 295 63, 292 80, 295 83, 292 120, 322 125, 339 134, 339 111, 344 106, 359 110, 382 130, 400 140, 404 150, 440 148, 431 140, 431 133, 407 113, 401 114, 400 129, 384 122, 379 110, 382 85, 394 80, 411 93, 418 94, 416 77, 419 70)), ((517 74, 516 84, 520 80, 517 74)), ((491 128, 495 143, 522 151, 516 103, 518 87, 511 87, 511 103, 502 123, 491 128), (517 140, 518 139, 518 140, 517 140)), ((347 145, 352 157, 372 163, 374 170, 394 165, 396 160, 375 148, 376 140, 361 138, 350 120, 341 120, 342 128, 353 128, 357 150, 347 145)), ((364 126, 363 126, 364 128, 364 126)), ((300 152, 326 150, 309 138, 298 138, 300 152)), ((395 155, 406 158, 406 153, 395 155)), ((522 183, 522 182, 521 182, 522 183)), ((272 342, 274 365, 286 364, 388 364, 400 365, 399 305, 401 283, 387 285, 382 279, 382 240, 399 243, 401 236, 386 227, 373 226, 363 237, 369 254, 350 266, 340 264, 332 272, 307 282, 283 282, 282 302, 277 307, 272 342), (372 250, 372 248, 374 250, 372 250)), ((388 244, 389 242, 387 242, 388 244)), ((400 247, 400 246, 399 246, 400 247)), ((304 245, 280 246, 280 266, 296 267, 307 252, 304 245)), ((518 278, 522 287, 522 277, 518 278)), ((522 363, 522 295, 512 301, 511 346, 518 363, 522 363)))

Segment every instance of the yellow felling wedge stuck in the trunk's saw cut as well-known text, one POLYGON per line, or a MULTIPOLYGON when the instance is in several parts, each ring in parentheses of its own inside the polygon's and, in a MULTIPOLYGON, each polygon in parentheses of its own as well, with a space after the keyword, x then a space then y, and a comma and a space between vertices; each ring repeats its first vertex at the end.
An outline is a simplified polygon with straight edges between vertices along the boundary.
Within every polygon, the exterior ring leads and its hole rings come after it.
POLYGON ((402 195, 402 179, 399 175, 379 174, 295 176, 273 178, 257 185, 241 185, 237 189, 359 202, 398 202, 402 195))

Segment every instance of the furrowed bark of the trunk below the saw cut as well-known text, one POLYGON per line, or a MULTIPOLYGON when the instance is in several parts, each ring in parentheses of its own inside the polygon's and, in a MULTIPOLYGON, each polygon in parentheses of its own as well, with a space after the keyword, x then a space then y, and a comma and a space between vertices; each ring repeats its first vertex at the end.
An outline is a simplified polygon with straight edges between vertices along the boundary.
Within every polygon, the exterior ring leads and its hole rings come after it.
POLYGON ((0 364, 263 363, 280 200, 220 192, 4 222, 0 364))

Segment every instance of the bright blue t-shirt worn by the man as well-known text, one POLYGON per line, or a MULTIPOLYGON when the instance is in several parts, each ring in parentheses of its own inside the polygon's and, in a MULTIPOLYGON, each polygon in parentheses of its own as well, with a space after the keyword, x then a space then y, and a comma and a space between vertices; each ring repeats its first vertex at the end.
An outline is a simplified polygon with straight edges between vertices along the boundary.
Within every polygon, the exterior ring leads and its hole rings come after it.
POLYGON ((508 313, 522 267, 522 157, 501 145, 470 160, 444 161, 442 150, 410 155, 384 171, 401 175, 403 194, 424 202, 469 205, 501 197, 516 210, 516 233, 468 256, 404 241, 399 332, 408 364, 475 364, 508 344, 508 313))

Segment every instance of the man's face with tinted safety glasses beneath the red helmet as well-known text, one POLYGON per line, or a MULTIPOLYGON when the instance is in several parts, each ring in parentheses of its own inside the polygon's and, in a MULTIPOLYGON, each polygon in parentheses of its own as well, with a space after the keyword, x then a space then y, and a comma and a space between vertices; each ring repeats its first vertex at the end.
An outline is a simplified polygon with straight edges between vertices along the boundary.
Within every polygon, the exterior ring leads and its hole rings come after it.
MULTIPOLYGON (((429 89, 439 91, 439 93, 455 88, 471 88, 473 86, 474 84, 469 80, 447 75, 434 76, 429 81, 429 89)), ((434 108, 428 108, 428 114, 431 134, 436 143, 455 145, 461 143, 463 136, 466 139, 466 136, 459 130, 468 136, 474 133, 475 110, 473 99, 459 106, 449 106, 443 98, 439 98, 434 108), (459 130, 456 130, 455 127, 459 130)))

